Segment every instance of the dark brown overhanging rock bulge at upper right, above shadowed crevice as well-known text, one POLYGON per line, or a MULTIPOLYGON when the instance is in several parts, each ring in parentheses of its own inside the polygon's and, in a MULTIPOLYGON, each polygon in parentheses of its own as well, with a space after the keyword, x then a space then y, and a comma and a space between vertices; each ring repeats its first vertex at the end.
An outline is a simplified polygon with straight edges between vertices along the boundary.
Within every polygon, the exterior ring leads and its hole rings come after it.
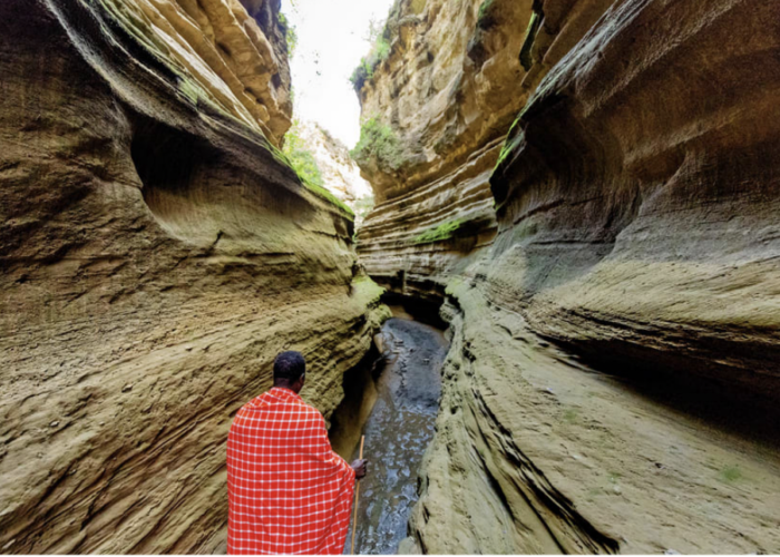
POLYGON ((490 281, 536 331, 780 395, 772 14, 615 4, 539 86, 491 180, 490 281))

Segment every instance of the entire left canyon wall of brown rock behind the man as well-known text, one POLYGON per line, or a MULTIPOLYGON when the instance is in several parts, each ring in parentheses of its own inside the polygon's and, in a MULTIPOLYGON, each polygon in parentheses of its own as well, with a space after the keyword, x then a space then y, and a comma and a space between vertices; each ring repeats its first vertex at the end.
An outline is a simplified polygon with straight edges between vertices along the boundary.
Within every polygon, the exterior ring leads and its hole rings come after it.
POLYGON ((227 429, 274 355, 329 416, 370 346, 380 289, 273 147, 279 6, 248 7, 0 3, 4 553, 224 550, 227 429))

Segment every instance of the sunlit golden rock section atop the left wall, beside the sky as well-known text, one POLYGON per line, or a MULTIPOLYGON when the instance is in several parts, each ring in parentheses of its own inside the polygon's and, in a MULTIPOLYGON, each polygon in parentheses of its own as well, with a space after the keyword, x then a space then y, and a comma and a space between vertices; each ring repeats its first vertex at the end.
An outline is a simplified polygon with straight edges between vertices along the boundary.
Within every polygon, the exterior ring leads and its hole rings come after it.
POLYGON ((176 76, 179 92, 260 129, 279 146, 290 127, 290 68, 279 2, 99 0, 146 52, 176 76), (262 28, 261 28, 262 26, 262 28))

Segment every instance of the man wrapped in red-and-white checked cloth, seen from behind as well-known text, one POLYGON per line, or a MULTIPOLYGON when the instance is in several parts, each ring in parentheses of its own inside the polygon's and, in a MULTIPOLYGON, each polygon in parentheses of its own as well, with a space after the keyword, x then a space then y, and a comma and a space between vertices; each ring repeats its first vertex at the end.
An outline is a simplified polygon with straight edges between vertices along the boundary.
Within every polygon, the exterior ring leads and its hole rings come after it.
POLYGON ((231 555, 340 554, 355 478, 365 460, 348 465, 333 452, 325 420, 299 392, 306 363, 283 352, 274 385, 245 404, 227 437, 231 555))

